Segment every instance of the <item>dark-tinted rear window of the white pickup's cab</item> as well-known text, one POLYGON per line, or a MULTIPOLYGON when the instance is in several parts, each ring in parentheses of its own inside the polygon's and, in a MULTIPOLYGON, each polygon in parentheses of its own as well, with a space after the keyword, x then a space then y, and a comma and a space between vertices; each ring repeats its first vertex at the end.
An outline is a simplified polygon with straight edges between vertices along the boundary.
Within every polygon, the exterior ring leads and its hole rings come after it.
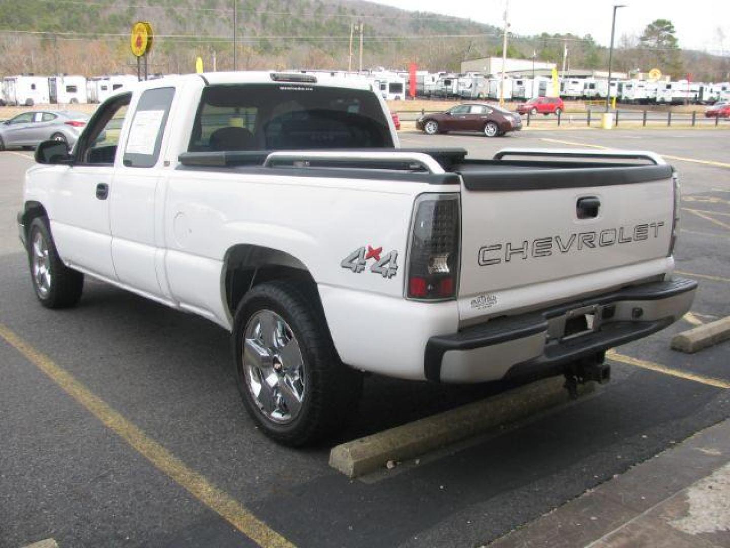
POLYGON ((277 83, 204 88, 188 150, 392 147, 371 91, 277 83))

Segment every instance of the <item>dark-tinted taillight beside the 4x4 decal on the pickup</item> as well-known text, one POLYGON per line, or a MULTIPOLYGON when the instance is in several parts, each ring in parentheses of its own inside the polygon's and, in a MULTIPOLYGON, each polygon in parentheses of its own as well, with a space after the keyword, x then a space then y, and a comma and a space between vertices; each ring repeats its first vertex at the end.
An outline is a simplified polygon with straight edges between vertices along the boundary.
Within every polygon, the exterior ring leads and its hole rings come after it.
POLYGON ((408 251, 406 296, 456 297, 459 265, 458 194, 421 194, 415 201, 408 251))

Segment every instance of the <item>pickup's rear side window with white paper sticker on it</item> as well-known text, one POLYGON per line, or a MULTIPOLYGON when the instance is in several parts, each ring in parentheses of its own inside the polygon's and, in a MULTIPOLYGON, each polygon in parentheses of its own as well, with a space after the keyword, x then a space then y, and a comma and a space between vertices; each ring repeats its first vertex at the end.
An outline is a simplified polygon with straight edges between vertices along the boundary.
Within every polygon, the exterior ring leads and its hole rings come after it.
POLYGON ((157 88, 139 98, 124 149, 124 165, 153 167, 157 163, 174 94, 174 88, 157 88))

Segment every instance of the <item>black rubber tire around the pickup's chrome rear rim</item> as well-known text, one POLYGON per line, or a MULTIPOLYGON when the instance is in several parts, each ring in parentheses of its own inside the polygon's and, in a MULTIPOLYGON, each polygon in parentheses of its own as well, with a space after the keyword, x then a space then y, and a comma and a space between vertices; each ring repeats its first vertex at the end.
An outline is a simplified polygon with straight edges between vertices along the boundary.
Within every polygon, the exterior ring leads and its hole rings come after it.
MULTIPOLYGON (((339 360, 315 296, 304 292, 295 283, 274 281, 251 289, 236 311, 231 340, 236 381, 246 411, 274 441, 293 447, 315 444, 345 427, 357 411, 362 376, 339 360), (257 403, 247 377, 250 369, 244 360, 247 330, 251 327, 255 330, 256 318, 261 313, 272 312, 285 322, 283 332, 291 330, 289 339, 298 343, 302 363, 299 371, 302 374, 298 376, 304 381, 301 407, 285 423, 274 420, 257 403), (253 322, 251 325, 250 321, 253 322)), ((276 361, 275 358, 274 370, 276 361)), ((281 379, 286 365, 285 362, 278 363, 276 371, 281 379)))

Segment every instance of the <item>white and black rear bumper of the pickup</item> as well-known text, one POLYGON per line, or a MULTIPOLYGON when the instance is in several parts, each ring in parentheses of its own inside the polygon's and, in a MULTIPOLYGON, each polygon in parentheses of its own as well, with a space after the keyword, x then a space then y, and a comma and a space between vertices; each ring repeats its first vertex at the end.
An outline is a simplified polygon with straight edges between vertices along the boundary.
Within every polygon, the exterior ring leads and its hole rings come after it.
POLYGON ((482 382, 534 378, 614 346, 664 329, 689 310, 696 281, 677 278, 493 319, 426 343, 426 378, 436 382, 482 382), (588 314, 591 330, 564 335, 566 321, 588 314))

